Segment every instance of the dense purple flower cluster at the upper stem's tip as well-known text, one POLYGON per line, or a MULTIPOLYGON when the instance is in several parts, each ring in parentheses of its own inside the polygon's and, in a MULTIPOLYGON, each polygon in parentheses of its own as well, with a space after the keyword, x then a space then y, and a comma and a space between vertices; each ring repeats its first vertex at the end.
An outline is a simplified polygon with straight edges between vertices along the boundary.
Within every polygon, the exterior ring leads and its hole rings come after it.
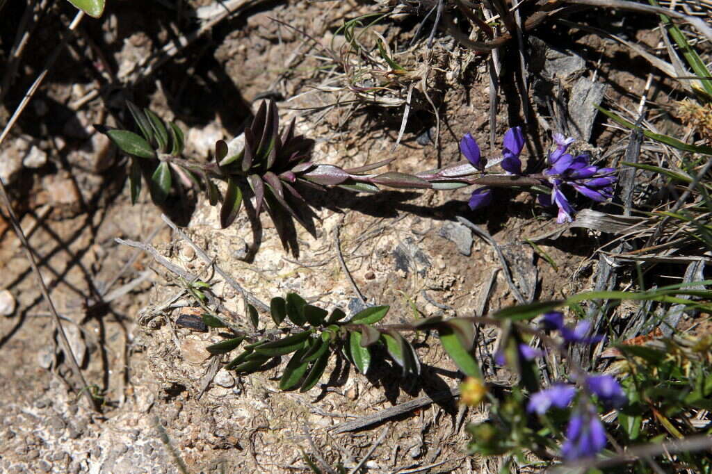
POLYGON ((574 209, 561 191, 561 186, 572 186, 580 194, 594 201, 603 202, 613 197, 613 184, 617 181, 614 176, 615 168, 602 168, 590 164, 590 155, 583 153, 577 157, 567 153, 567 149, 574 141, 565 138, 560 133, 554 134, 556 149, 549 154, 549 169, 544 174, 548 176, 548 186, 551 195, 539 195, 539 203, 543 206, 556 206, 559 208, 558 223, 571 222, 574 209))

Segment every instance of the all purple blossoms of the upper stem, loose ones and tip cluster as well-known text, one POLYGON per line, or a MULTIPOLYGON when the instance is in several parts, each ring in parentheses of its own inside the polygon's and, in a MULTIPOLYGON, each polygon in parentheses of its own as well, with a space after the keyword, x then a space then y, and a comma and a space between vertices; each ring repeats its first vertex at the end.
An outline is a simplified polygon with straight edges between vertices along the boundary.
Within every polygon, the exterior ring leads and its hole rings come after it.
MULTIPOLYGON (((579 154, 574 157, 567 153, 567 149, 574 141, 565 138, 560 133, 555 133, 556 149, 549 154, 549 168, 545 170, 545 179, 542 184, 551 188, 551 194, 540 194, 539 203, 543 206, 559 208, 558 223, 571 222, 574 209, 567 197, 562 192, 562 186, 572 186, 576 191, 594 201, 602 202, 613 196, 613 185, 617 181, 616 169, 596 167, 590 164, 588 154, 579 154)), ((522 174, 522 162, 519 155, 524 148, 524 135, 520 127, 507 130, 504 135, 501 167, 510 174, 522 174)), ((469 133, 460 140, 460 150, 473 167, 483 172, 487 159, 481 157, 480 147, 469 133)), ((472 210, 488 206, 492 203, 492 190, 489 186, 482 186, 473 191, 469 205, 472 210)))

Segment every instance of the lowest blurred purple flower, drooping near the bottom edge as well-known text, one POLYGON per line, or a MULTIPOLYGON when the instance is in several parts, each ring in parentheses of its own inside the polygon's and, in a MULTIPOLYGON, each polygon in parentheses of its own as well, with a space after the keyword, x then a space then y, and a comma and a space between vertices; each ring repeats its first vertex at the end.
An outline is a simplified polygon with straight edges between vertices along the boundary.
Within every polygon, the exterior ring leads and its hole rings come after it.
POLYGON ((606 447, 606 430, 595 409, 574 414, 566 428, 566 441, 561 453, 566 460, 592 458, 606 447))

